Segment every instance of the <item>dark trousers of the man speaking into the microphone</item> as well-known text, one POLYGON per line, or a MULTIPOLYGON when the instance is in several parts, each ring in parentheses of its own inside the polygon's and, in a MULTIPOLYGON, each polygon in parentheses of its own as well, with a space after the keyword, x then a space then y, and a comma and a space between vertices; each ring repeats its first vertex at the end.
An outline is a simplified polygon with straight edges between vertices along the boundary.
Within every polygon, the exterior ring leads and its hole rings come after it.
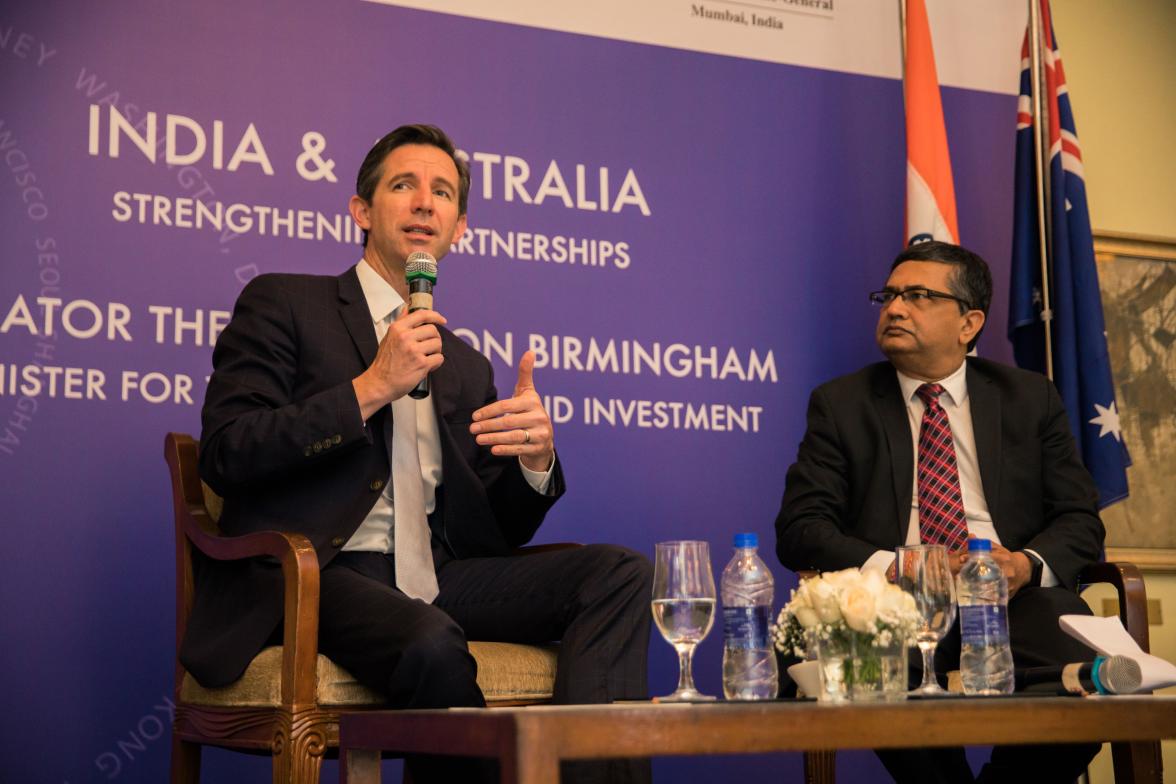
MULTIPOLYGON (((340 552, 322 570, 319 648, 396 708, 483 706, 467 639, 560 641, 554 702, 644 699, 652 567, 620 547, 448 559, 433 604, 395 587, 392 556, 340 552)), ((457 757, 409 760, 413 779, 493 780, 457 757)), ((566 782, 648 782, 648 760, 564 763, 566 782)))

